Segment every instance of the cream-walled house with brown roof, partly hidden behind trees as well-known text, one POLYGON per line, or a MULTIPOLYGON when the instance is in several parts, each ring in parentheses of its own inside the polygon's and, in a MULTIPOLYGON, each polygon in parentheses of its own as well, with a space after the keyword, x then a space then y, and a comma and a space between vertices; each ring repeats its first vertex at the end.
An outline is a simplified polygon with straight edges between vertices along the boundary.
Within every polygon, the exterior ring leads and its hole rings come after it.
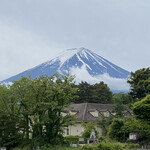
MULTIPOLYGON (((80 103, 70 105, 68 110, 70 114, 76 116, 77 120, 75 125, 69 126, 65 129, 64 136, 81 136, 84 131, 84 128, 82 126, 83 122, 94 122, 96 120, 101 120, 103 116, 114 116, 115 113, 113 113, 113 108, 113 104, 80 103)), ((124 115, 131 115, 131 111, 129 108, 125 109, 124 115)), ((102 129, 98 126, 95 126, 95 128, 99 132, 99 136, 102 136, 102 129)))

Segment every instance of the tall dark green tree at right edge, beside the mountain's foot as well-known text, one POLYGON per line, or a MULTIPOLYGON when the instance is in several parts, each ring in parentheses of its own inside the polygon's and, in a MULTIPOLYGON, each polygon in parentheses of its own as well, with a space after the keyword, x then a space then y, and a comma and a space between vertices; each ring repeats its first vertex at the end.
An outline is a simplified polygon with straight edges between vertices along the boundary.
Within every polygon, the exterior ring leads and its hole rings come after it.
POLYGON ((131 72, 128 81, 131 88, 131 96, 136 99, 142 99, 150 94, 150 68, 139 69, 131 72))

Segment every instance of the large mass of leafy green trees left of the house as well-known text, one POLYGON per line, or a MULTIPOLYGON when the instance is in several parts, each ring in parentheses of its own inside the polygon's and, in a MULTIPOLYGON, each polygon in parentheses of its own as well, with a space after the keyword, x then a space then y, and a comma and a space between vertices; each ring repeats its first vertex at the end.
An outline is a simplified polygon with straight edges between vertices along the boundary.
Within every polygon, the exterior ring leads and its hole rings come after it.
MULTIPOLYGON (((7 93, 1 92, 0 134, 5 133, 6 139, 11 137, 11 143, 5 143, 11 146, 18 136, 25 145, 61 143, 64 127, 74 123, 74 117, 65 109, 77 91, 73 88, 73 79, 57 74, 35 79, 22 77, 7 89, 7 93), (67 115, 63 116, 62 112, 67 115)), ((6 87, 2 90, 7 91, 6 87)), ((4 137, 1 137, 4 146, 4 137)))

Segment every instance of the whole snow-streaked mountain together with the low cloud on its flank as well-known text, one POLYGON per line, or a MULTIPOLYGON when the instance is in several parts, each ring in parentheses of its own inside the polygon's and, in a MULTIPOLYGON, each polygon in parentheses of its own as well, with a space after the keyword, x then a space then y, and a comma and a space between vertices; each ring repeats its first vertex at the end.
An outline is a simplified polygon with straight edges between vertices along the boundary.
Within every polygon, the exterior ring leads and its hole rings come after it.
POLYGON ((32 78, 36 78, 41 75, 51 76, 54 73, 66 74, 68 72, 75 75, 78 82, 96 83, 104 81, 110 89, 128 89, 126 79, 130 72, 83 47, 68 49, 58 57, 3 80, 1 83, 18 80, 21 76, 29 77, 31 75, 32 78))

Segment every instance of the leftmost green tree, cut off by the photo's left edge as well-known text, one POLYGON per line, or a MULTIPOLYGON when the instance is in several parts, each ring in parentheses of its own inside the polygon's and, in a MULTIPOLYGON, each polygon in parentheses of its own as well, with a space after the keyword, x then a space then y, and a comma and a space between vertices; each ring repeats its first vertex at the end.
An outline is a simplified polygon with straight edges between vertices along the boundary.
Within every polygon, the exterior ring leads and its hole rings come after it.
POLYGON ((15 147, 20 143, 18 110, 8 87, 0 86, 0 147, 15 147))

